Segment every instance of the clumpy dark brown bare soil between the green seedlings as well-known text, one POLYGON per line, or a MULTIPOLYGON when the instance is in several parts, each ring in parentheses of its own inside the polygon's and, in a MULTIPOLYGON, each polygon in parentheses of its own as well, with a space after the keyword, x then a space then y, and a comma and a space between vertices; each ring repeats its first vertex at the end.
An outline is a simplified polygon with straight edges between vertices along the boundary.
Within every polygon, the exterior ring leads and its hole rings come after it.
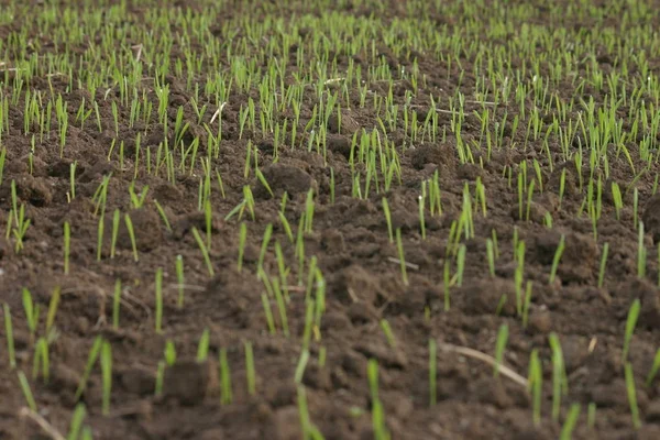
MULTIPOLYGON (((282 3, 278 14, 285 18, 289 18, 294 10, 298 14, 331 12, 309 11, 305 7, 282 3)), ((371 9, 366 3, 361 3, 363 6, 346 9, 338 7, 337 12, 346 16, 366 16, 371 9)), ((421 20, 407 16, 405 2, 389 3, 391 8, 376 12, 376 21, 387 25, 397 18, 421 20)), ((41 6, 35 4, 37 7, 41 6)), ((201 7, 189 4, 184 8, 196 11, 201 7)), ((254 11, 252 13, 257 13, 258 9, 254 11)), ((224 22, 240 26, 241 15, 250 13, 249 10, 228 6, 227 13, 218 13, 218 26, 224 22)), ((484 7, 485 22, 486 14, 487 8, 484 7)), ((145 12, 141 8, 130 12, 133 22, 143 20, 145 12)), ((30 16, 23 13, 11 25, 4 25, 2 37, 15 34, 29 20, 30 16)), ((424 20, 461 32, 460 15, 447 16, 442 12, 429 12, 424 20)), ((607 22, 612 26, 617 24, 617 18, 607 20, 612 21, 607 22)), ((529 23, 546 25, 542 8, 539 7, 531 14, 529 23)), ((654 23, 660 25, 658 20, 654 23)), ((518 24, 521 23, 515 23, 516 29, 518 24)), ((572 33, 594 23, 587 19, 579 21, 565 18, 562 23, 547 25, 564 28, 572 33)), ((605 24, 600 22, 597 25, 605 24)), ((42 41, 43 53, 56 50, 43 44, 47 36, 38 34, 34 26, 28 25, 26 29, 30 30, 28 37, 42 41)), ((172 31, 175 33, 180 30, 172 31)), ((300 30, 301 34, 307 35, 312 32, 315 30, 300 30)), ((175 42, 175 48, 176 45, 175 42)), ((506 45, 506 42, 493 42, 493 45, 506 45)), ((380 41, 376 42, 376 47, 393 69, 410 66, 411 55, 396 56, 380 41)), ((86 50, 85 46, 76 48, 80 53, 86 50)), ((603 51, 600 55, 606 56, 606 48, 603 51)), ((176 54, 177 51, 174 50, 172 56, 176 58, 176 54)), ((609 55, 614 59, 615 55, 609 55)), ((443 97, 443 106, 457 89, 461 89, 465 96, 472 96, 475 81, 473 55, 461 56, 465 75, 459 85, 460 70, 455 64, 448 70, 448 65, 440 63, 433 54, 416 52, 415 57, 420 70, 427 76, 428 84, 424 87, 420 85, 414 103, 418 102, 428 109, 426 97, 431 92, 443 97)), ((651 55, 647 57, 657 75, 660 68, 658 58, 652 58, 651 55)), ((367 63, 362 61, 360 54, 353 61, 361 63, 364 70, 367 69, 367 63)), ((515 59, 515 63, 521 61, 515 59)), ((338 55, 339 72, 345 69, 348 57, 338 55)), ((295 57, 292 57, 289 67, 295 68, 295 57)), ((224 65, 221 68, 229 69, 224 65)), ((548 66, 543 64, 542 68, 547 69, 548 66)), ((608 65, 608 68, 614 67, 608 65)), ((541 72, 544 73, 547 70, 541 72)), ((584 75, 585 70, 576 74, 584 75)), ((185 79, 170 76, 167 80, 176 98, 172 100, 170 109, 174 125, 178 105, 189 102, 194 92, 186 87, 185 79)), ((204 78, 196 80, 204 81, 204 78)), ((74 119, 84 94, 67 90, 68 80, 54 78, 51 82, 55 91, 69 101, 69 112, 74 119)), ((46 78, 28 86, 33 90, 50 92, 46 78)), ((396 81, 393 91, 395 102, 403 103, 405 91, 409 89, 411 85, 407 81, 396 81)), ((383 90, 377 90, 374 85, 373 90, 383 95, 388 92, 385 86, 383 90)), ((252 91, 256 98, 256 88, 252 91)), ((551 91, 566 99, 573 95, 572 88, 561 85, 552 86, 551 91)), ((300 132, 311 117, 314 91, 309 89, 307 92, 309 99, 306 102, 309 106, 306 105, 300 111, 300 132)), ((215 222, 210 260, 215 276, 209 277, 191 232, 193 228, 206 231, 204 212, 197 206, 199 175, 179 173, 172 183, 164 173, 156 177, 140 170, 136 193, 145 186, 150 189, 144 206, 132 209, 129 186, 135 173, 134 139, 138 131, 144 131, 145 128, 131 129, 124 123, 119 131, 119 139, 127 142, 123 168, 118 158, 108 161, 108 145, 114 138, 110 101, 118 98, 114 91, 109 94, 109 100, 102 99, 105 90, 97 94, 103 116, 101 122, 107 130, 98 133, 94 123, 88 123, 82 130, 72 127, 65 157, 59 158, 57 145, 44 144, 35 153, 32 174, 25 158, 31 145, 30 139, 22 132, 22 103, 10 109, 11 128, 2 138, 2 145, 8 147, 8 153, 0 186, 0 205, 3 207, 0 224, 6 226, 8 222, 11 207, 10 183, 13 179, 19 204, 25 204, 25 215, 32 220, 32 226, 28 231, 24 249, 18 254, 13 249, 13 239, 0 240, 0 299, 11 308, 19 367, 31 378, 33 343, 23 312, 22 288, 29 288, 41 306, 42 332, 50 298, 56 287, 62 288, 62 300, 55 320, 58 334, 51 345, 50 381, 47 384, 41 377, 30 381, 40 414, 62 433, 68 432, 76 406, 75 391, 91 344, 96 337, 101 336, 111 343, 113 353, 110 414, 101 414, 101 374, 98 367, 92 371, 81 398, 88 411, 85 424, 92 428, 95 439, 301 439, 294 374, 301 351, 305 290, 297 286, 295 249, 278 219, 278 210, 282 196, 287 193, 289 200, 286 217, 295 233, 305 210, 307 193, 314 189, 314 231, 305 238, 305 253, 308 257, 315 255, 318 258, 318 266, 327 283, 327 305, 322 326, 318 329, 320 340, 315 340, 310 345, 311 356, 302 384, 306 387, 310 420, 326 439, 373 438, 366 375, 370 359, 378 361, 380 396, 393 439, 552 439, 559 436, 565 414, 574 403, 582 405, 575 438, 660 438, 659 382, 651 387, 644 386, 660 340, 660 290, 654 282, 658 279, 658 265, 652 243, 660 237, 660 199, 658 196, 651 197, 658 172, 656 165, 636 183, 640 199, 639 215, 648 226, 647 246, 650 255, 647 278, 639 280, 631 196, 626 195, 620 221, 615 218, 612 198, 607 195, 603 197, 603 216, 595 240, 586 216, 576 216, 586 189, 579 191, 573 164, 566 165, 566 193, 561 206, 559 205, 559 151, 553 151, 558 166, 552 173, 543 170, 546 191, 535 197, 530 221, 526 222, 518 220, 517 190, 515 185, 508 186, 503 168, 517 167, 521 161, 534 157, 543 164, 546 158, 536 153, 540 151, 540 141, 527 152, 507 147, 495 151, 491 161, 485 161, 483 166, 479 163, 459 165, 455 139, 452 135, 448 135, 446 142, 427 142, 414 146, 406 142, 406 146, 400 148, 402 183, 393 185, 393 189, 385 194, 393 224, 402 230, 405 256, 409 263, 409 283, 406 285, 396 260, 397 249, 388 241, 387 223, 381 204, 383 195, 377 195, 374 190, 365 200, 351 197, 352 182, 348 161, 351 136, 361 129, 371 130, 376 125, 373 107, 360 108, 356 105, 358 92, 351 94, 355 102, 350 109, 342 107, 341 128, 337 118, 329 121, 327 163, 314 151, 282 148, 278 162, 274 164, 272 140, 262 140, 261 133, 246 133, 239 140, 239 112, 241 106, 246 105, 248 95, 237 92, 229 97, 223 108, 221 154, 217 163, 212 164, 222 176, 224 197, 219 190, 213 190, 215 222), (248 179, 243 176, 249 140, 257 146, 260 167, 274 197, 253 175, 248 179), (74 161, 77 163, 76 198, 69 202, 69 167, 74 161), (330 194, 330 169, 336 182, 334 202, 330 194), (422 240, 417 200, 421 182, 430 178, 437 169, 440 170, 440 187, 443 191, 443 213, 431 217, 427 212, 427 238, 422 240), (112 173, 112 179, 108 190, 105 229, 112 229, 111 213, 116 209, 128 213, 135 229, 138 262, 134 261, 132 243, 123 221, 119 229, 114 257, 110 257, 107 234, 101 260, 97 261, 99 217, 95 213, 92 198, 103 176, 109 173, 112 173), (475 237, 465 243, 464 283, 461 287, 451 288, 450 309, 444 310, 443 265, 449 231, 451 222, 460 215, 464 185, 469 184, 473 190, 477 178, 485 184, 487 190, 487 216, 484 218, 480 213, 474 217, 475 237), (248 212, 242 218, 248 228, 248 242, 243 270, 239 272, 237 261, 241 221, 238 220, 238 215, 223 219, 243 200, 245 185, 252 188, 255 197, 255 218, 252 220, 248 212), (155 200, 163 206, 172 230, 162 221, 155 200), (645 211, 647 202, 648 209, 645 211), (548 212, 553 219, 551 230, 543 224, 548 212), (65 221, 72 228, 69 275, 64 275, 63 266, 65 221), (285 261, 292 266, 290 302, 287 305, 292 333, 289 338, 283 334, 274 301, 272 307, 276 316, 277 333, 268 333, 261 299, 264 285, 257 279, 256 266, 262 238, 268 223, 274 226, 272 243, 280 244, 285 261), (516 265, 512 243, 515 230, 519 240, 524 240, 527 245, 525 279, 534 282, 527 328, 522 327, 517 317, 514 297, 516 265), (486 239, 492 237, 493 231, 497 234, 501 253, 495 277, 488 275, 486 260, 486 239), (557 279, 550 284, 550 268, 562 234, 565 235, 566 246, 557 279), (598 265, 604 243, 609 245, 609 258, 604 287, 598 288, 598 265), (177 307, 177 255, 182 255, 185 264, 185 306, 182 309, 177 307), (164 270, 162 334, 154 330, 154 276, 157 268, 164 270), (112 293, 118 279, 122 282, 123 300, 120 327, 113 329, 112 293), (503 295, 507 295, 508 299, 501 304, 503 295), (637 398, 644 421, 639 431, 635 431, 631 426, 622 364, 626 316, 636 298, 641 300, 641 314, 629 360, 635 371, 637 398), (396 340, 394 348, 389 345, 380 326, 383 319, 392 328, 396 340), (449 351, 440 350, 437 371, 438 404, 430 407, 429 339, 436 339, 439 346, 451 344, 493 355, 497 330, 503 323, 507 323, 509 328, 505 363, 510 369, 527 376, 530 353, 534 349, 539 350, 544 373, 540 426, 532 422, 531 399, 520 384, 504 375, 494 377, 493 370, 487 364, 449 351), (210 331, 209 360, 199 363, 195 361, 197 344, 205 329, 210 331), (551 332, 558 334, 561 341, 570 385, 568 394, 562 398, 559 421, 553 421, 550 414, 552 364, 548 336, 551 332), (155 396, 157 365, 163 360, 167 341, 176 346, 177 362, 165 370, 163 394, 155 396), (251 342, 254 351, 254 396, 246 388, 245 342, 251 342), (224 405, 220 397, 218 361, 221 349, 227 349, 233 392, 232 403, 224 405), (326 351, 323 365, 319 363, 321 350, 326 351), (596 424, 592 430, 586 426, 586 407, 590 403, 597 406, 596 424)), ((594 92, 593 96, 596 103, 604 99, 601 94, 594 92)), ((157 106, 155 97, 152 98, 154 106, 157 106)), ((215 110, 213 108, 207 112, 206 123, 210 122, 215 110)), ((627 114, 628 109, 624 110, 627 114)), ((518 107, 506 109, 503 105, 497 108, 499 120, 505 111, 508 111, 510 123, 518 107)), ((207 133, 204 127, 196 123, 197 117, 189 106, 185 107, 185 119, 190 122, 191 139, 199 138, 206 150, 207 133)), ((463 138, 479 139, 479 122, 473 116, 466 119, 463 138)), ((441 114, 441 124, 449 127, 450 121, 451 116, 441 114)), ((510 130, 508 132, 510 134, 510 130)), ((395 131, 388 133, 388 136, 397 145, 403 145, 403 133, 395 131)), ((146 129, 143 146, 155 148, 162 141, 163 128, 146 129)), ((507 135, 507 145, 512 141, 514 140, 507 135)), ((638 154, 634 151, 631 154, 637 169, 641 169, 638 154)), ((623 160, 609 165, 612 177, 625 188, 634 178, 629 166, 623 160)), ((266 253, 265 267, 270 274, 278 273, 273 245, 266 253)), ((0 438, 48 438, 33 420, 19 416, 20 408, 26 404, 16 372, 9 367, 4 326, 0 329, 0 438)))

